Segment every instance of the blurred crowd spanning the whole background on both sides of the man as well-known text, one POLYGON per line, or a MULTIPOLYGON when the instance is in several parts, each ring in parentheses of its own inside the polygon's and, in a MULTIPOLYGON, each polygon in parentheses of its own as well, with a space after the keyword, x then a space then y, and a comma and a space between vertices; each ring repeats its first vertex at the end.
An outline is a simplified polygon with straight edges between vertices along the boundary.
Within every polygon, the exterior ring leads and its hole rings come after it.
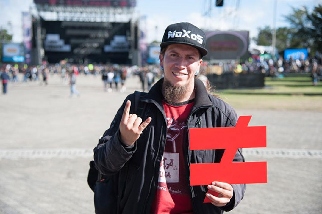
MULTIPOLYGON (((260 56, 253 56, 245 61, 230 61, 209 64, 204 62, 200 69, 201 79, 206 79, 207 74, 217 73, 264 73, 270 77, 283 77, 287 73, 309 73, 312 76, 313 85, 322 81, 322 56, 307 58, 306 60, 284 60, 280 57, 278 60, 263 59, 260 56)), ((56 64, 44 65, 18 65, 3 64, 0 66, 0 75, 3 83, 3 93, 7 93, 8 82, 27 82, 40 81, 40 84, 47 85, 49 75, 57 74, 62 82, 69 81, 71 85, 71 96, 79 92, 76 90, 77 75, 101 75, 103 89, 107 92, 126 90, 126 78, 131 75, 137 75, 142 91, 149 91, 153 83, 163 75, 158 65, 147 66, 125 66, 125 65, 104 65, 88 64, 75 65, 62 60, 56 64), (18 74, 23 74, 19 79, 18 74)), ((207 81, 207 80, 205 80, 207 81)))

